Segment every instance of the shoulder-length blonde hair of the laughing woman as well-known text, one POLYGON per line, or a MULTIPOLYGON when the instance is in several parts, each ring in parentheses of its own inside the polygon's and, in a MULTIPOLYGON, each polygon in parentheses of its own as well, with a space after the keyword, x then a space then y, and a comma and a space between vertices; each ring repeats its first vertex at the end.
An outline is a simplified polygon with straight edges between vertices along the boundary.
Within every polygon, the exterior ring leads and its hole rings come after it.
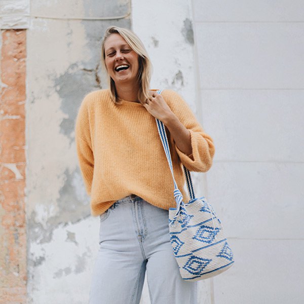
MULTIPOLYGON (((151 72, 152 72, 152 65, 148 56, 148 53, 139 39, 139 37, 133 33, 131 30, 118 27, 118 26, 110 26, 105 30, 103 41, 101 45, 101 62, 104 68, 107 70, 105 65, 105 52, 104 52, 104 44, 107 38, 111 34, 120 34, 123 39, 127 42, 127 44, 131 47, 131 49, 138 54, 138 83, 139 83, 139 90, 138 90, 138 100, 140 103, 144 104, 147 98, 150 96, 149 94, 149 87, 150 87, 150 79, 151 79, 151 72)), ((115 82, 111 79, 108 74, 108 82, 110 88, 110 97, 113 102, 120 103, 119 98, 116 93, 115 82)))

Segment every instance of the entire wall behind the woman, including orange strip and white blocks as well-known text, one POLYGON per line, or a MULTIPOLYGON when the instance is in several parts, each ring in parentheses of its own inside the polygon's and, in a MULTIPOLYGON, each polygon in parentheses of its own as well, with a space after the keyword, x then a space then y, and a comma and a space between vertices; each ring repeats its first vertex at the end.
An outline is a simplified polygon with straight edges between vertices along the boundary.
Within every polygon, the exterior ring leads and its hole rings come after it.
POLYGON ((26 283, 28 303, 88 301, 99 221, 90 216, 73 128, 84 95, 106 86, 100 43, 117 24, 147 47, 152 87, 178 91, 216 145, 211 170, 193 176, 237 263, 199 282, 200 302, 300 303, 302 2, 193 0, 194 20, 182 0, 134 0, 131 15, 126 0, 33 0, 31 18, 28 1, 11 3, 24 18, 1 17, 0 25, 28 29, 3 30, 0 39, 2 302, 25 303, 26 283))

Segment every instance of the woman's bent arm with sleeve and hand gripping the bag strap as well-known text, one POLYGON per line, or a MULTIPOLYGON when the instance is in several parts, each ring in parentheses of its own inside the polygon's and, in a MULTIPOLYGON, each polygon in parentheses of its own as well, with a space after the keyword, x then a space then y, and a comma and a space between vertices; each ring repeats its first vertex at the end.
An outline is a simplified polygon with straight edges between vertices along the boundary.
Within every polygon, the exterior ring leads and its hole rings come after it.
POLYGON ((189 171, 206 172, 212 166, 215 147, 187 103, 173 90, 153 94, 144 104, 170 132, 181 163, 189 171), (165 98, 165 99, 164 99, 165 98))

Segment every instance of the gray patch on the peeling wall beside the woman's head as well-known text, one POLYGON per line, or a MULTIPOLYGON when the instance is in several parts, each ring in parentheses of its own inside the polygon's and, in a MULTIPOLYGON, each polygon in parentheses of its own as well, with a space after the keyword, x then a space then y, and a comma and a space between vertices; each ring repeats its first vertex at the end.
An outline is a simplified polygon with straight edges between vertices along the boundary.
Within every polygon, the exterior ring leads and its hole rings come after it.
MULTIPOLYGON (((122 14, 128 8, 128 1, 121 1, 118 6, 114 6, 111 1, 106 5, 104 2, 97 0, 90 0, 86 3, 85 10, 87 14, 91 12, 103 12, 109 16, 115 14, 122 14), (113 8, 116 9, 113 9, 113 8)), ((87 47, 91 50, 90 60, 88 62, 72 63, 64 74, 54 79, 55 89, 61 98, 61 110, 67 116, 63 118, 60 124, 60 133, 69 138, 70 143, 73 142, 72 137, 74 131, 74 123, 77 117, 79 106, 83 97, 92 91, 103 89, 107 87, 106 71, 101 67, 101 41, 105 29, 113 24, 112 20, 109 21, 82 21, 87 33, 87 47)), ((129 19, 121 19, 116 21, 117 26, 131 28, 129 19)), ((68 37, 71 35, 68 33, 68 37)))

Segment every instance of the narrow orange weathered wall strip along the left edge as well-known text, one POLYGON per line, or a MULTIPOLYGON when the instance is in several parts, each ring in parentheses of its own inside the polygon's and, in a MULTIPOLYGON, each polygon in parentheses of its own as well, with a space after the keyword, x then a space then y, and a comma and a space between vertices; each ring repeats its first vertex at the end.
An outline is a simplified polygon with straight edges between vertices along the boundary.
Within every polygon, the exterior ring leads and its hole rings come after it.
POLYGON ((0 303, 26 301, 26 31, 1 30, 0 303))

